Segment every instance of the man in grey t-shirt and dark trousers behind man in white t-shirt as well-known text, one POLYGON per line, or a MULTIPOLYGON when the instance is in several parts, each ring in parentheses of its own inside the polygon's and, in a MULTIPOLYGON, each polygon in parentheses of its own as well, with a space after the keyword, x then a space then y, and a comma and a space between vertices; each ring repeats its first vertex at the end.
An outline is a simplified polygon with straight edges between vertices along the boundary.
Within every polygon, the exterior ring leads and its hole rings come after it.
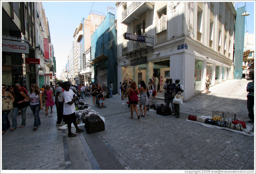
POLYGON ((62 125, 64 125, 64 123, 61 123, 61 121, 63 119, 63 104, 64 104, 63 90, 62 90, 63 81, 59 80, 58 84, 59 84, 59 86, 56 89, 56 96, 55 96, 55 105, 56 105, 56 110, 57 110, 56 126, 62 126, 62 125))

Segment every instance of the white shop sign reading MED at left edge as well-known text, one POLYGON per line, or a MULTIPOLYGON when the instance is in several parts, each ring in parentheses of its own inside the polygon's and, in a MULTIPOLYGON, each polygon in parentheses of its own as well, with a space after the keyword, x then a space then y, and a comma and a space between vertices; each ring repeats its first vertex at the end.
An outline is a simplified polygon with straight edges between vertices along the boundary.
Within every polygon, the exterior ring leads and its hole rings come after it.
POLYGON ((29 54, 29 47, 25 42, 2 40, 2 51, 29 54))

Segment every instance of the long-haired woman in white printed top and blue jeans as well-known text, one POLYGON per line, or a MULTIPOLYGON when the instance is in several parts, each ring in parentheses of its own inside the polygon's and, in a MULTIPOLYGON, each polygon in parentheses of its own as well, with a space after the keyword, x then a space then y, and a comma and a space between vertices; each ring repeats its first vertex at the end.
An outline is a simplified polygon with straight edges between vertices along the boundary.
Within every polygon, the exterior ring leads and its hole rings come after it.
POLYGON ((41 125, 39 111, 43 110, 42 103, 42 91, 39 90, 37 84, 31 84, 28 92, 28 98, 25 101, 30 101, 30 108, 34 114, 34 130, 37 130, 38 126, 41 125))

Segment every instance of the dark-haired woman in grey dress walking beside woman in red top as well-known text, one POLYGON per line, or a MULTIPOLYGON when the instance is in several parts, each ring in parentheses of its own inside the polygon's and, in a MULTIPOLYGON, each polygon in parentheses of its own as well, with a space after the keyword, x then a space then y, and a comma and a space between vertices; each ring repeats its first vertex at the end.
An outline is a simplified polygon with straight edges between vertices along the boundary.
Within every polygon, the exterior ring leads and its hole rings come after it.
POLYGON ((139 89, 140 101, 139 101, 139 107, 140 107, 140 111, 141 111, 141 117, 146 117, 146 113, 147 113, 147 105, 148 105, 147 91, 148 91, 148 87, 146 86, 145 82, 143 80, 140 81, 140 89, 139 89), (143 108, 144 108, 144 113, 143 113, 142 105, 143 105, 143 108))

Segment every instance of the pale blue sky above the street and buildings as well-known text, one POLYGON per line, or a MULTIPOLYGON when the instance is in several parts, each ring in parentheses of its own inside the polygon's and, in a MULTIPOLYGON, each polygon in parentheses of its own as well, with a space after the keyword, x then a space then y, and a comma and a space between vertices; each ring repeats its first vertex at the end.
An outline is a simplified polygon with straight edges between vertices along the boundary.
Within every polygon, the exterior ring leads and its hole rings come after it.
MULTIPOLYGON (((54 55, 56 58, 56 74, 60 78, 62 69, 67 63, 67 56, 69 55, 69 47, 74 40, 73 34, 76 27, 80 24, 82 18, 87 18, 91 10, 102 12, 105 15, 108 13, 107 7, 115 8, 116 15, 116 1, 77 1, 77 2, 46 2, 42 1, 43 9, 49 22, 51 43, 54 47, 54 55)), ((235 2, 237 7, 243 7, 245 1, 235 2)), ((246 11, 250 13, 246 16, 247 27, 245 25, 245 32, 249 34, 254 33, 254 14, 255 1, 246 1, 246 11)), ((113 13, 113 11, 111 11, 113 13)))

